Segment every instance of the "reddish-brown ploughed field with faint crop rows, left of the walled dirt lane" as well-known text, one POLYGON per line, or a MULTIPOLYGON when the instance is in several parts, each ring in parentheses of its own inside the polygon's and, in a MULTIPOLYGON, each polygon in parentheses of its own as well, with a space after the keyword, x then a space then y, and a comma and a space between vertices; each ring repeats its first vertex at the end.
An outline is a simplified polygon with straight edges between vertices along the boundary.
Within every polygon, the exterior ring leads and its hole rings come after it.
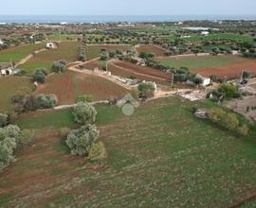
POLYGON ((78 95, 93 95, 95 100, 103 100, 125 95, 125 92, 125 89, 104 78, 71 72, 47 78, 46 84, 37 91, 38 94, 57 95, 59 105, 73 104, 78 95))

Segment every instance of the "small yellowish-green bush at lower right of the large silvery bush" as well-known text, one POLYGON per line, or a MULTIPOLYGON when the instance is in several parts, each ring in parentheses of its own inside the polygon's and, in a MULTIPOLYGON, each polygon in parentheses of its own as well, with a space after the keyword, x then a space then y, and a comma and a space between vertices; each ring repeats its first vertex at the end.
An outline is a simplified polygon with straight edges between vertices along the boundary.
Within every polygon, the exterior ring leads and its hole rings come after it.
POLYGON ((107 157, 105 146, 102 142, 93 143, 88 152, 88 159, 91 162, 101 162, 107 157))

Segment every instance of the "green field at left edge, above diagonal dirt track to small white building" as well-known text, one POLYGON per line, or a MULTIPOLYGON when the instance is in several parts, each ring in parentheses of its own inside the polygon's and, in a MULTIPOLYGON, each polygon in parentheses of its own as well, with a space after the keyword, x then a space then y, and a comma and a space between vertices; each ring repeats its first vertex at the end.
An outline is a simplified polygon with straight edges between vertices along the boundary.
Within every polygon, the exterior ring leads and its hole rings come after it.
POLYGON ((0 62, 20 61, 32 52, 46 47, 46 43, 21 44, 0 51, 0 62))

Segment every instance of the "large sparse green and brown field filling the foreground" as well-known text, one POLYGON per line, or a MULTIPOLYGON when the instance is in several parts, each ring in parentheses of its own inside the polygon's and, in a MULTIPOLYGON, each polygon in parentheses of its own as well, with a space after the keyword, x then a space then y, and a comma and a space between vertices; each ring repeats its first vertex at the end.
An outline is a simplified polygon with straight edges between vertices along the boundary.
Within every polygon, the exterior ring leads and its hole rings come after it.
MULTIPOLYGON (((107 165, 101 168, 68 155, 54 126, 45 122, 35 145, 0 175, 1 207, 218 208, 247 199, 255 203, 255 130, 237 138, 194 118, 192 105, 170 97, 145 103, 130 117, 118 107, 97 109, 100 139, 108 151, 107 165)), ((45 116, 27 119, 37 123, 45 116)))

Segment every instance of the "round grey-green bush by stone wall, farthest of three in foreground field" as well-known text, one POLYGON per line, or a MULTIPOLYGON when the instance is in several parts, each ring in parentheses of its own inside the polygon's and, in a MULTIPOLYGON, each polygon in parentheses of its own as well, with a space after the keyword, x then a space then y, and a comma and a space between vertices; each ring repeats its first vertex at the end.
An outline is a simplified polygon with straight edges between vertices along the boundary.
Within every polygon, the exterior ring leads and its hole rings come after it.
POLYGON ((74 108, 75 122, 85 125, 95 122, 97 112, 89 103, 79 102, 74 108))

